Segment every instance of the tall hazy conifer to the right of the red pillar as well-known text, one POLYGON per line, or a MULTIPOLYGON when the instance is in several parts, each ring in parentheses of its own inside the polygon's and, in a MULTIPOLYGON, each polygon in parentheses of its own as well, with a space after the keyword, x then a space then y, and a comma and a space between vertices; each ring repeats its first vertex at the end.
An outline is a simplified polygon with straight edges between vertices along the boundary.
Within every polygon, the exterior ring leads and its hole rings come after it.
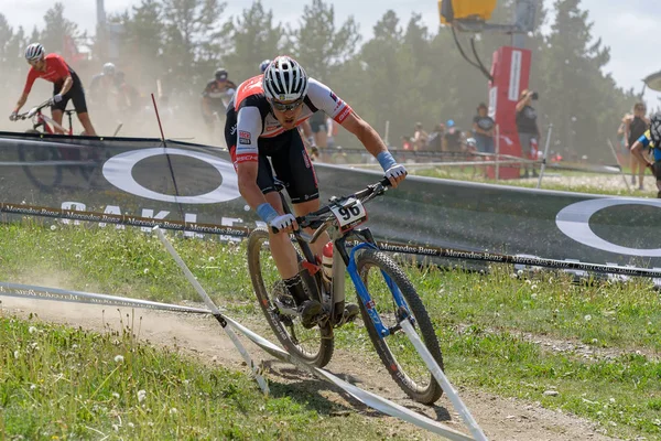
POLYGON ((593 23, 579 8, 581 0, 556 0, 555 21, 542 51, 543 99, 554 125, 554 139, 565 153, 604 154, 605 140, 621 119, 626 94, 603 68, 608 47, 592 36, 593 23))

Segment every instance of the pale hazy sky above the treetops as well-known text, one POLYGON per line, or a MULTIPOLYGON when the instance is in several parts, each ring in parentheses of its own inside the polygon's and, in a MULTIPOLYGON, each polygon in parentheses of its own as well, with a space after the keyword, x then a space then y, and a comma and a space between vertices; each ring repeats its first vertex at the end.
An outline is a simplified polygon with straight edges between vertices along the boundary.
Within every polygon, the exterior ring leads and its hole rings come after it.
MULTIPOLYGON (((94 32, 96 21, 96 0, 59 0, 65 6, 69 20, 82 29, 94 32)), ((106 0, 108 13, 121 12, 139 0, 106 0)), ((229 0, 226 13, 238 14, 249 7, 252 0, 229 0)), ((267 9, 272 9, 275 19, 283 23, 295 23, 305 0, 262 0, 267 9)), ((544 0, 552 6, 553 0, 544 0)), ((12 25, 23 25, 31 30, 35 24, 41 26, 44 12, 53 4, 52 0, 0 0, 0 12, 12 25), (19 6, 20 4, 20 6, 19 6)), ((436 0, 333 0, 336 18, 339 22, 354 15, 360 24, 365 37, 371 35, 373 24, 388 9, 394 10, 402 19, 411 13, 420 12, 431 29, 438 25, 436 0)), ((593 35, 602 37, 604 44, 611 49, 611 60, 606 66, 622 87, 640 90, 641 79, 652 72, 661 69, 661 60, 652 56, 658 53, 653 45, 661 32, 661 2, 659 0, 583 0, 582 8, 589 12, 595 23, 593 35)), ((658 105, 657 96, 648 93, 646 99, 650 105, 658 105)))

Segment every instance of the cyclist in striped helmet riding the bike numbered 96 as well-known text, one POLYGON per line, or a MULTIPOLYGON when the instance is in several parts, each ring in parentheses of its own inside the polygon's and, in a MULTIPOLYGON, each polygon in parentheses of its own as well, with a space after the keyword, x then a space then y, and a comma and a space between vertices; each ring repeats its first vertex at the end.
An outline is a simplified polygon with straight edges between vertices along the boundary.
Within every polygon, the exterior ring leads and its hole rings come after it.
MULTIPOLYGON (((393 186, 407 176, 407 170, 397 163, 376 130, 326 85, 308 78, 291 57, 277 57, 263 75, 239 85, 229 103, 225 125, 225 139, 237 170, 239 192, 263 222, 280 230, 273 234, 269 228, 271 252, 306 327, 316 324, 322 305, 308 299, 299 275, 295 250, 289 237, 297 225, 293 215, 284 214, 280 197, 274 193, 273 171, 284 182, 297 216, 319 208, 314 168, 299 130, 295 130, 317 110, 354 133, 377 158, 393 186)), ((313 245, 317 256, 329 240, 324 235, 313 245)))

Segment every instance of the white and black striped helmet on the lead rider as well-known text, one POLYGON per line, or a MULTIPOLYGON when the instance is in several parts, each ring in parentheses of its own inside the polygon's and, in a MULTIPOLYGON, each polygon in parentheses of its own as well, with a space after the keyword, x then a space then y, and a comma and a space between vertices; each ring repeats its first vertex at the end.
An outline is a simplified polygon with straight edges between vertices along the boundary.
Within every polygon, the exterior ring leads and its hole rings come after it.
POLYGON ((282 55, 264 71, 264 95, 268 99, 293 101, 307 95, 307 74, 293 58, 282 55))

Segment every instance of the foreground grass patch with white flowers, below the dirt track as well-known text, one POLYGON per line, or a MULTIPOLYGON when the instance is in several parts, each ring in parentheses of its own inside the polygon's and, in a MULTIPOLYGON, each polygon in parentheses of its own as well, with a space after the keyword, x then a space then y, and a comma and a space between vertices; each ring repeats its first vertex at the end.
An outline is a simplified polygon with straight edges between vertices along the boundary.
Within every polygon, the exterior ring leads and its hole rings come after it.
POLYGON ((340 406, 277 381, 267 398, 248 376, 139 344, 132 331, 101 335, 0 316, 1 438, 305 440, 359 431, 380 440, 388 432, 379 419, 329 418, 340 406))

